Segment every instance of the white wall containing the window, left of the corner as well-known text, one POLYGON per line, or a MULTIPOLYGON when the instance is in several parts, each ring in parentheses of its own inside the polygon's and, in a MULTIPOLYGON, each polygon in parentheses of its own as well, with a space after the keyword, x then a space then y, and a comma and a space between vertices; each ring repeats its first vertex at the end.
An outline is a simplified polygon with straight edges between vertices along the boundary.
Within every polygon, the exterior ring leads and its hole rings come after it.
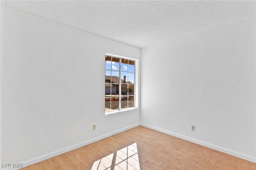
POLYGON ((4 15, 1 163, 28 165, 139 125, 140 109, 105 115, 104 59, 140 63, 140 48, 8 6, 4 15))

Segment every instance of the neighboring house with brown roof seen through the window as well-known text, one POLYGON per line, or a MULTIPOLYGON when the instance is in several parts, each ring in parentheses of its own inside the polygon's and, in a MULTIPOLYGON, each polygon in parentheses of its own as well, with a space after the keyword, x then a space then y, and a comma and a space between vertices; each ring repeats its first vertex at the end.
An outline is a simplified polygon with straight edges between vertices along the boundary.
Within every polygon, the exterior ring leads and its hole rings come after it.
MULTIPOLYGON (((127 92, 127 83, 126 82, 126 76, 124 76, 124 79, 121 79, 122 84, 122 93, 127 92)), ((112 94, 118 94, 119 92, 119 77, 118 76, 105 76, 105 94, 110 94, 110 88, 112 89, 112 94), (111 80, 112 78, 112 80, 111 80)))

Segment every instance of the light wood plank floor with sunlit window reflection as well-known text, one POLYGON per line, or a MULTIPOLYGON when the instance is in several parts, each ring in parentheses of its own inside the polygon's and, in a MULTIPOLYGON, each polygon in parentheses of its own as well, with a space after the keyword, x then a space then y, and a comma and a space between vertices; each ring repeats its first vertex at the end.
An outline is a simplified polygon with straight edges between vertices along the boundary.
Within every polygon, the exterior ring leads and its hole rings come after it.
POLYGON ((22 170, 256 170, 256 164, 138 126, 22 170))

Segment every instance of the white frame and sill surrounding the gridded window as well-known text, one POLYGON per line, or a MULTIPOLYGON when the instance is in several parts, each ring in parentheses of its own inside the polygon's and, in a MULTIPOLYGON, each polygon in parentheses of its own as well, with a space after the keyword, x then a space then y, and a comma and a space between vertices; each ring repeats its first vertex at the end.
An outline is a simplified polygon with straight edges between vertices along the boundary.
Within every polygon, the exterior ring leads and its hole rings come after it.
MULTIPOLYGON (((119 94, 119 109, 112 110, 112 111, 111 110, 105 111, 105 115, 112 114, 112 113, 118 113, 118 112, 122 112, 122 111, 127 111, 127 110, 132 110, 132 109, 137 109, 138 108, 138 59, 124 57, 124 56, 120 56, 120 55, 113 55, 113 54, 109 54, 109 53, 105 53, 105 56, 115 57, 115 58, 120 59, 120 62, 119 62, 119 77, 120 78, 119 78, 119 92, 118 92, 118 94, 119 94), (122 74, 122 70, 120 68, 122 59, 134 61, 134 107, 128 107, 128 108, 123 108, 123 109, 121 108, 121 92, 122 92, 121 74, 122 74)), ((104 58, 105 58, 105 56, 104 56, 104 58)), ((106 74, 106 62, 104 62, 104 67, 105 67, 105 69, 104 69, 104 75, 105 75, 106 74)), ((105 80, 104 80, 104 82, 105 82, 105 80)), ((104 83, 104 88, 105 88, 105 83, 104 83)), ((104 94, 104 98, 105 98, 105 94, 104 94)))

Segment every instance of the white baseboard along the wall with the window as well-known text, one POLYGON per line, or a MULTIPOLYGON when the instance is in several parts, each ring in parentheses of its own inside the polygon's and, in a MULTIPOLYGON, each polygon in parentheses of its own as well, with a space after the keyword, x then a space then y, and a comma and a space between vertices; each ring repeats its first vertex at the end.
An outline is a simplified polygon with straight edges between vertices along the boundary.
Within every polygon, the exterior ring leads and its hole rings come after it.
MULTIPOLYGON (((108 133, 108 134, 105 134, 105 135, 102 135, 102 136, 99 136, 99 137, 96 137, 96 138, 93 138, 93 139, 90 139, 88 141, 84 141, 84 142, 81 142, 81 143, 78 143, 76 145, 72 145, 70 147, 66 147, 66 148, 63 148, 63 149, 60 149, 60 150, 56 150, 54 152, 51 152, 51 153, 48 153, 48 154, 45 154, 45 155, 42 155, 42 156, 38 156, 36 158, 33 158, 33 159, 30 159, 30 160, 27 160, 27 161, 24 161, 24 162, 20 162, 23 164, 23 167, 26 167, 26 166, 29 166, 29 165, 32 165, 32 164, 35 164, 35 163, 38 163, 38 162, 41 162, 43 160, 46 160, 46 159, 49 159, 49 158, 52 158, 54 156, 58 156, 60 154, 63 154, 63 153, 66 153, 66 152, 69 152, 70 150, 74 150, 74 149, 77 149, 77 148, 80 148, 80 147, 83 147, 85 145, 88 145, 90 143, 94 143, 96 141, 99 141, 101 139, 104 139, 106 137, 110 137, 112 135, 116 135, 118 133, 121 133, 123 131, 126 131, 128 129, 132 129, 134 127, 137 127, 139 126, 140 123, 136 123, 134 125, 131 125, 131 126, 128 126, 128 127, 125 127, 125 128, 122 128, 122 129, 119 129, 117 131, 113 131, 111 133, 108 133)), ((6 168, 4 170, 16 170, 14 168, 6 168)), ((17 168, 18 169, 18 168, 17 168)))

